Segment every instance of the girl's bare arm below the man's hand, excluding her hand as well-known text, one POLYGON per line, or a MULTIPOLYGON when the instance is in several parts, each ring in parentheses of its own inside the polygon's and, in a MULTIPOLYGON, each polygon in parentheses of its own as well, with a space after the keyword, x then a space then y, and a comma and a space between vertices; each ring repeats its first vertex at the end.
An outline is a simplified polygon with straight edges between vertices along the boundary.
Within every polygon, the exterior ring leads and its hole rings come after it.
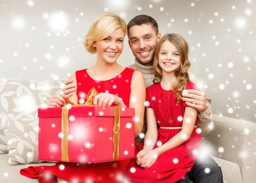
POLYGON ((164 152, 180 146, 181 144, 186 142, 186 140, 188 140, 192 134, 195 126, 196 117, 197 109, 194 109, 192 107, 186 107, 181 131, 177 133, 174 137, 172 137, 172 139, 170 139, 167 143, 156 148, 157 155, 160 156, 164 152))

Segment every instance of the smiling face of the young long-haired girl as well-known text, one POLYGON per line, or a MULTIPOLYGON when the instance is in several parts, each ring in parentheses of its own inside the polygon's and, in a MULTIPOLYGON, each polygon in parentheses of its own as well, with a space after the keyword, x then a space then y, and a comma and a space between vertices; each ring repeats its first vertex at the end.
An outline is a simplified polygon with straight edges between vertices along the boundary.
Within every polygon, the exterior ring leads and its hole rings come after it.
POLYGON ((176 46, 168 40, 164 41, 158 55, 158 64, 163 72, 175 72, 180 67, 180 63, 180 53, 176 46))

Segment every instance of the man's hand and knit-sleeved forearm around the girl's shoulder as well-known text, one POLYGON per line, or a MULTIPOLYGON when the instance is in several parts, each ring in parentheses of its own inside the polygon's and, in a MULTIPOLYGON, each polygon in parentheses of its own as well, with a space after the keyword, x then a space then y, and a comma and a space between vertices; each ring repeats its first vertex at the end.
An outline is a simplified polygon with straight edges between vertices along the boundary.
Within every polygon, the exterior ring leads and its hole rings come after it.
POLYGON ((182 94, 183 101, 190 107, 198 110, 198 127, 202 130, 201 137, 207 136, 213 127, 211 106, 204 92, 188 89, 182 94))

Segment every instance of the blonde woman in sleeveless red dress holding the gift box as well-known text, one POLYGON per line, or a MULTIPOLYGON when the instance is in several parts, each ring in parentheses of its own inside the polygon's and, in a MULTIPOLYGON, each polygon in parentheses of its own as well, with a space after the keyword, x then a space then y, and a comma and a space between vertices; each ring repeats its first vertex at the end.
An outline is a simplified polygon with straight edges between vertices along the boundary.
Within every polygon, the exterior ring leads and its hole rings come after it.
MULTIPOLYGON (((70 76, 76 83, 76 88, 69 99, 73 103, 85 103, 87 93, 94 87, 99 92, 93 99, 94 105, 134 108, 137 137, 143 128, 145 82, 139 71, 116 63, 123 50, 126 31, 125 21, 116 14, 102 14, 95 20, 85 37, 84 46, 89 53, 97 53, 96 64, 70 76)), ((64 99, 53 96, 49 100, 49 106, 62 107, 64 99)), ((128 163, 129 160, 95 164, 58 162, 55 166, 30 167, 20 173, 30 178, 38 177, 39 183, 55 183, 56 179, 58 183, 80 183, 87 180, 96 183, 121 183, 128 163), (38 174, 32 175, 32 172, 38 174)))

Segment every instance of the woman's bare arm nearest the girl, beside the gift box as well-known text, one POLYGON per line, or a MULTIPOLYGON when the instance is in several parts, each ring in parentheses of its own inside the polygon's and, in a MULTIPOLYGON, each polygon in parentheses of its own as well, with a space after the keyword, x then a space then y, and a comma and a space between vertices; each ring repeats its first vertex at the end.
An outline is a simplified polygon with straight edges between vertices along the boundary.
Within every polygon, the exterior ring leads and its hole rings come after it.
POLYGON ((131 93, 129 108, 135 109, 135 137, 138 137, 143 128, 143 117, 145 112, 146 87, 143 74, 140 71, 134 71, 131 79, 131 93))

